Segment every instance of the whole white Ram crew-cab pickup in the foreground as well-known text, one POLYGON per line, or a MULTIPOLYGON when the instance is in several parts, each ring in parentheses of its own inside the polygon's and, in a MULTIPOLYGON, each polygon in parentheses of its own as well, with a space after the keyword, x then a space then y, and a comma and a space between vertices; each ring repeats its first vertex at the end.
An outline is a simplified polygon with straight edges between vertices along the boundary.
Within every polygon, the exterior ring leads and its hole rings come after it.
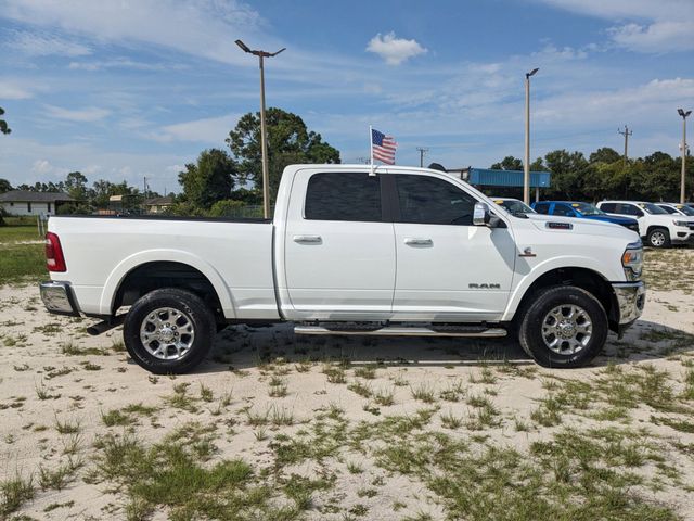
POLYGON ((409 167, 290 166, 272 220, 51 217, 47 258, 46 307, 101 318, 92 334, 124 323, 130 356, 156 373, 193 369, 228 323, 280 321, 304 334, 513 332, 539 364, 577 367, 645 301, 633 231, 512 215, 409 167))

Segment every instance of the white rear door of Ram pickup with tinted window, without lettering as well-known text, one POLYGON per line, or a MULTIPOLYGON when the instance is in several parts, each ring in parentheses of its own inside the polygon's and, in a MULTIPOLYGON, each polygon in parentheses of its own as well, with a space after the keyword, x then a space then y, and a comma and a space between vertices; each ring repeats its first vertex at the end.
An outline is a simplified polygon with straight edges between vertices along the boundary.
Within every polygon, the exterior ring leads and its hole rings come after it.
POLYGON ((382 203, 382 176, 299 170, 284 234, 286 318, 389 318, 395 287, 393 223, 382 203))

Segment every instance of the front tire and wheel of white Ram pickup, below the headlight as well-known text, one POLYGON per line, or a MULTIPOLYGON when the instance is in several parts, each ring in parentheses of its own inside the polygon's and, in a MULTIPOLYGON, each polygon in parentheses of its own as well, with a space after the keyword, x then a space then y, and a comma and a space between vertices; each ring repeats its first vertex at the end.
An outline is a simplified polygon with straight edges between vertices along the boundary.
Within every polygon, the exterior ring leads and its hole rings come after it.
POLYGON ((544 367, 589 364, 607 340, 607 314, 591 293, 573 285, 551 287, 532 295, 518 328, 523 350, 544 367))

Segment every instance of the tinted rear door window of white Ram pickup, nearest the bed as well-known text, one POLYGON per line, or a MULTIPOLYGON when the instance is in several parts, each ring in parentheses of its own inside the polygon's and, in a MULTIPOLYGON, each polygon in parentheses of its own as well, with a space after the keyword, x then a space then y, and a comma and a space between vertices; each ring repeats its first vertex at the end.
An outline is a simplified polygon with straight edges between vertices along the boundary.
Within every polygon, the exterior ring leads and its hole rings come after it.
POLYGON ((381 181, 368 173, 314 174, 305 216, 313 220, 381 220, 381 181))

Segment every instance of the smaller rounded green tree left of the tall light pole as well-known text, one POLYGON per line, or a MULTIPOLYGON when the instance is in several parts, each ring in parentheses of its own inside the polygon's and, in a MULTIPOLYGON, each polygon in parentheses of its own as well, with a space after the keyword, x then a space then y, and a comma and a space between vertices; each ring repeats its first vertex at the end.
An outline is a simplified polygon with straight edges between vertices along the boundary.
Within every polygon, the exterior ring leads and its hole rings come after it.
POLYGON ((209 209, 217 201, 231 196, 236 164, 227 152, 219 149, 203 151, 197 163, 189 163, 178 175, 183 188, 183 199, 193 206, 209 209))

